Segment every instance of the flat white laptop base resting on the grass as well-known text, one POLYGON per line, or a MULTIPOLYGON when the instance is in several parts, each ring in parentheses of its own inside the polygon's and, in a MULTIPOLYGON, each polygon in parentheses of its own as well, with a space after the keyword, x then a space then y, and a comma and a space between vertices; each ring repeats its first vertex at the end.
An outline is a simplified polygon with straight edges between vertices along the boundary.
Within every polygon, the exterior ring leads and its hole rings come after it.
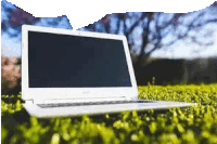
POLYGON ((41 108, 37 104, 24 104, 29 115, 38 118, 73 117, 81 115, 107 114, 126 110, 166 109, 171 107, 189 107, 195 103, 152 101, 151 103, 103 104, 41 108))

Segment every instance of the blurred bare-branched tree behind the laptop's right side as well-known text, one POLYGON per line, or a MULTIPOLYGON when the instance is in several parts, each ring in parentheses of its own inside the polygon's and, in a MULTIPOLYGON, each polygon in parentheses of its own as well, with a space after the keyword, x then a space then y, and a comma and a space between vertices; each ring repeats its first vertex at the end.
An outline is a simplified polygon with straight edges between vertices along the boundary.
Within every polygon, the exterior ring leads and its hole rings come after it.
MULTIPOLYGON (((177 41, 189 39, 200 45, 212 45, 213 42, 200 41, 199 37, 192 35, 200 31, 207 24, 217 24, 217 4, 192 13, 163 13, 163 12, 128 12, 105 15, 99 22, 85 27, 86 30, 108 34, 125 35, 129 42, 129 50, 132 52, 136 43, 139 44, 140 54, 133 62, 135 67, 143 64, 154 51, 165 49, 177 41), (141 29, 141 34, 137 29, 141 29), (138 40, 139 35, 139 40, 138 40), (170 40, 163 42, 167 37, 170 40), (149 50, 150 49, 150 50, 149 50)), ((212 34, 207 31, 207 34, 212 34)), ((212 36, 212 35, 209 35, 212 36)), ((204 36, 206 37, 206 36, 204 36)))

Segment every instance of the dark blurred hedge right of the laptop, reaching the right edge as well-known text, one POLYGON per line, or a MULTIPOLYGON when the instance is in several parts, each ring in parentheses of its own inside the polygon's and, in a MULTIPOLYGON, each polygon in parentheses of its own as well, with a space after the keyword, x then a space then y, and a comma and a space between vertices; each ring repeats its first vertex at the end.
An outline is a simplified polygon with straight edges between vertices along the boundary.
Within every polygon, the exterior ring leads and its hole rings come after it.
POLYGON ((143 66, 135 65, 139 86, 146 86, 155 77, 156 84, 217 82, 217 57, 195 60, 150 58, 143 66))

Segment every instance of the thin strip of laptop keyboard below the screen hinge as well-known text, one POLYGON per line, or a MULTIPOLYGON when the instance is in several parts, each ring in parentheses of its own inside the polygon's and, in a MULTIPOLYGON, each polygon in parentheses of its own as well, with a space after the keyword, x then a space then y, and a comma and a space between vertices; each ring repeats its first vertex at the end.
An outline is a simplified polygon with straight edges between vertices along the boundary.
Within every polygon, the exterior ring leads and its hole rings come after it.
MULTIPOLYGON (((103 102, 79 102, 79 103, 52 103, 37 104, 41 108, 66 107, 66 106, 87 106, 87 105, 105 105, 105 104, 129 104, 129 103, 151 103, 152 101, 103 101, 103 102)), ((153 102, 152 102, 153 103, 153 102)))

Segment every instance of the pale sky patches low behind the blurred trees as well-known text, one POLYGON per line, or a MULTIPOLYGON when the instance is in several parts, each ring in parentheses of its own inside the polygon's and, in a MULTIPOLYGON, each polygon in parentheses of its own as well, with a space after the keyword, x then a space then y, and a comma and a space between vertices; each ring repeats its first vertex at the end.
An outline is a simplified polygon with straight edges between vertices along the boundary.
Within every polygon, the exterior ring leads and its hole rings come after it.
MULTIPOLYGON (((8 3, 11 6, 15 6, 11 3, 8 3)), ((4 13, 1 12, 1 17, 4 17, 4 13)), ((43 21, 39 22, 38 25, 46 26, 43 21)), ((62 21, 59 28, 66 28, 67 22, 62 21)), ((164 50, 154 51, 151 56, 153 57, 169 57, 169 58, 196 58, 196 57, 208 57, 208 56, 217 56, 217 25, 207 25, 206 29, 214 29, 214 37, 212 40, 214 44, 200 49, 200 45, 192 44, 187 41, 179 41, 171 47, 168 47, 164 50), (194 52, 194 50, 201 50, 200 52, 194 52)), ((21 56, 21 39, 11 39, 7 34, 1 35, 1 54, 12 57, 12 56, 21 56)))

